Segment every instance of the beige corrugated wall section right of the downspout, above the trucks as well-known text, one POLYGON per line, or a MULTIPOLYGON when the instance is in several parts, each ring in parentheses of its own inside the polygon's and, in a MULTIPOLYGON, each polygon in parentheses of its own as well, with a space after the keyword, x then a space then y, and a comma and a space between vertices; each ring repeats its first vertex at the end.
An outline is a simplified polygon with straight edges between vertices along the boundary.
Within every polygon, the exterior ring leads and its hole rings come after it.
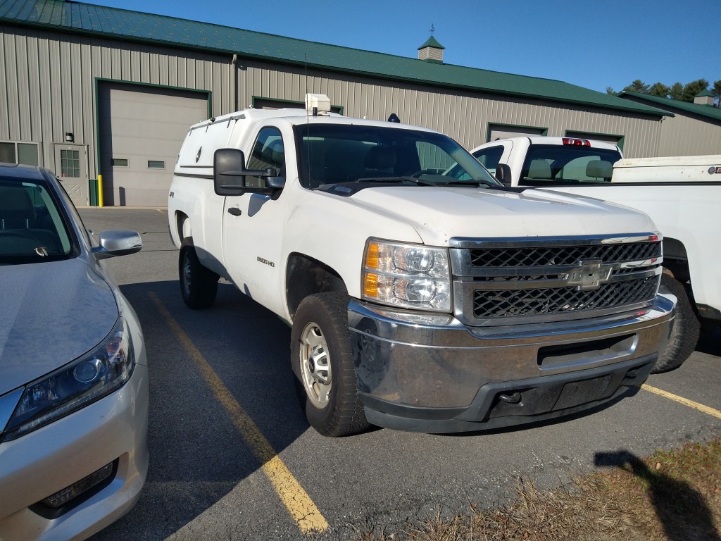
POLYGON ((547 128, 549 136, 567 130, 624 136, 628 157, 653 155, 658 146, 658 118, 639 118, 621 111, 588 110, 538 100, 433 89, 420 84, 337 75, 290 67, 278 71, 271 63, 239 62, 239 99, 270 97, 302 101, 307 92, 328 94, 332 105, 342 105, 352 117, 386 120, 396 113, 404 123, 448 133, 466 148, 485 143, 489 123, 547 128))

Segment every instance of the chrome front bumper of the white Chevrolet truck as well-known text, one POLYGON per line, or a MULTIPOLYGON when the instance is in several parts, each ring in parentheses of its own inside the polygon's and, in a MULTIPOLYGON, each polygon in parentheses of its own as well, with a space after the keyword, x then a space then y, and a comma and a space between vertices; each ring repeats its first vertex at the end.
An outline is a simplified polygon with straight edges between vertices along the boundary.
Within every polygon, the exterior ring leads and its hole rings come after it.
POLYGON ((348 328, 370 423, 457 432, 542 421, 633 392, 663 352, 676 298, 565 324, 465 327, 351 301, 348 328))

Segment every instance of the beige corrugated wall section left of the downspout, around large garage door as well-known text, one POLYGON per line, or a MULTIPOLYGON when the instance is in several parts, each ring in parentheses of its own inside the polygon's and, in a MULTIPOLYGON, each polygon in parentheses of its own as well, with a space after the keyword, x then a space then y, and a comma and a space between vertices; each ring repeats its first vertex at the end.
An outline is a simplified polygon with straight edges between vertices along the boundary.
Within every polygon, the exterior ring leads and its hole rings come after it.
POLYGON ((0 26, 0 140, 41 144, 54 167, 65 133, 87 145, 97 177, 97 79, 212 92, 213 114, 230 111, 231 56, 164 49, 74 34, 0 26), (7 119, 7 122, 5 122, 7 119))

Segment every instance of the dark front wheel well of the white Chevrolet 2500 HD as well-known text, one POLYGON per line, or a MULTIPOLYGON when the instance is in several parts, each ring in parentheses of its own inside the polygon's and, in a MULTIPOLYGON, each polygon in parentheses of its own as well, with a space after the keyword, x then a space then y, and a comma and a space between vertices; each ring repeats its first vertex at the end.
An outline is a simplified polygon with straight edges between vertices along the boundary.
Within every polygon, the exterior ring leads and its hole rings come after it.
POLYGON ((340 275, 328 265, 303 254, 291 254, 286 272, 286 299, 291 317, 306 296, 340 291, 348 294, 340 275))

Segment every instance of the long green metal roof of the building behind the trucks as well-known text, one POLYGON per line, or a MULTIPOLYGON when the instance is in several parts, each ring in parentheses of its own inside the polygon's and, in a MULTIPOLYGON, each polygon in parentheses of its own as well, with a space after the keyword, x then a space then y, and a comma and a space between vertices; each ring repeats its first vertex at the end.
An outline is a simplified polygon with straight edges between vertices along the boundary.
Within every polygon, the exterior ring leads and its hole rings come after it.
POLYGON ((630 100, 622 100, 613 94, 596 92, 554 79, 426 62, 417 58, 284 38, 208 22, 133 12, 79 1, 0 0, 0 22, 174 48, 237 54, 263 61, 447 89, 503 94, 580 107, 601 107, 651 117, 668 115, 655 107, 647 107, 630 100))

